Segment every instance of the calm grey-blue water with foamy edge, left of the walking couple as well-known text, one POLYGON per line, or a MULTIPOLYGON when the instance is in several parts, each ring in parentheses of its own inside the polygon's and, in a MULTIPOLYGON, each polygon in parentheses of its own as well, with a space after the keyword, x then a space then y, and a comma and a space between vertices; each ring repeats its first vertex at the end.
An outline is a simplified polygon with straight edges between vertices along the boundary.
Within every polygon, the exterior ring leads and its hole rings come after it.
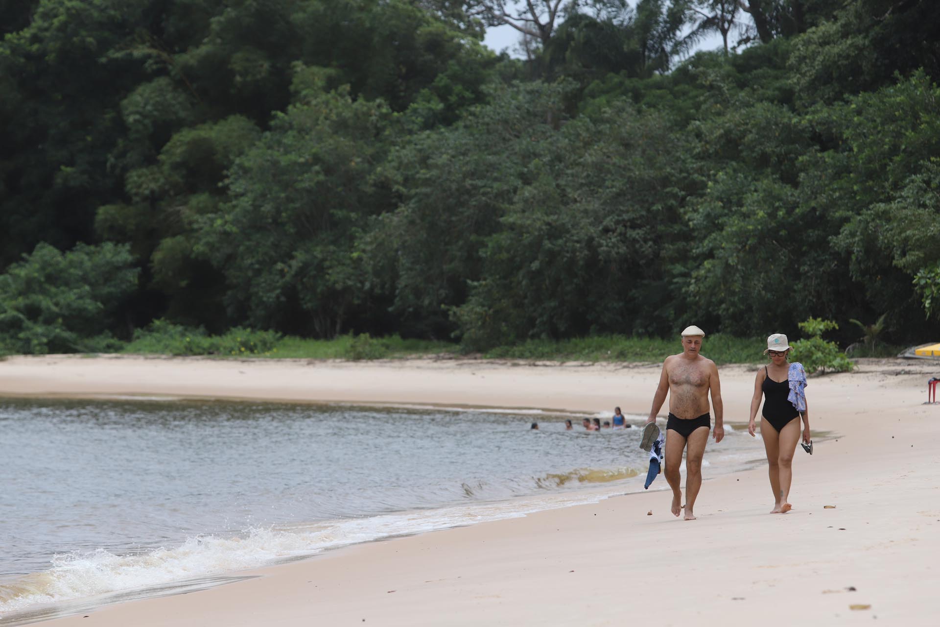
MULTIPOLYGON (((641 430, 589 432, 583 417, 0 400, 0 623, 106 593, 179 591, 356 542, 641 491, 649 459, 641 430)), ((754 456, 730 435, 707 462, 731 469, 754 456)))

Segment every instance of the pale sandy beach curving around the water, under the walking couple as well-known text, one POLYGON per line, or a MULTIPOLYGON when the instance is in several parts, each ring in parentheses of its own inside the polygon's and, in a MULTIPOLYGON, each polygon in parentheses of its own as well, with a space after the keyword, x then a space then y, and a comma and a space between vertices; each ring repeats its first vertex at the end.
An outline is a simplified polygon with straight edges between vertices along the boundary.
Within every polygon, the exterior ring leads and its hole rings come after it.
MULTIPOLYGON (((707 355, 707 350, 703 351, 707 355)), ((659 365, 10 357, 0 395, 649 412, 659 365)), ((743 429, 756 368, 721 368, 743 429)), ((766 465, 710 478, 697 521, 670 494, 620 495, 329 551, 235 583, 103 605, 49 625, 933 625, 940 585, 940 364, 862 360, 810 380, 813 456, 797 448, 786 515, 766 465), (826 506, 834 506, 826 508, 826 506), (651 513, 650 513, 651 512, 651 513)), ((763 458, 760 438, 754 458, 763 458)), ((708 450, 706 450, 706 460, 708 450)), ((684 479, 684 478, 683 478, 684 479)), ((654 486, 654 487, 655 487, 654 486)))

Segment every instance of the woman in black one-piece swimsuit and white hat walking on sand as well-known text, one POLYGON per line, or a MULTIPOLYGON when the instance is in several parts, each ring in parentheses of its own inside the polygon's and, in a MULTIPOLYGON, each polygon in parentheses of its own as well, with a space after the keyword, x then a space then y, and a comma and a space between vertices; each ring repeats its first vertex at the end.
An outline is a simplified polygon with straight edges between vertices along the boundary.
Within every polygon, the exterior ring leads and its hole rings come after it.
POLYGON ((770 486, 774 491, 772 514, 790 511, 790 484, 793 478, 792 461, 796 443, 800 440, 800 421, 803 416, 803 442, 807 452, 812 452, 809 437, 809 412, 803 388, 807 386, 807 373, 803 365, 788 361, 791 346, 787 336, 775 333, 767 338, 764 354, 770 356, 770 364, 758 370, 754 381, 754 397, 751 399, 751 418, 747 432, 754 435, 754 419, 764 397, 760 418, 760 437, 767 451, 770 468, 770 486))

